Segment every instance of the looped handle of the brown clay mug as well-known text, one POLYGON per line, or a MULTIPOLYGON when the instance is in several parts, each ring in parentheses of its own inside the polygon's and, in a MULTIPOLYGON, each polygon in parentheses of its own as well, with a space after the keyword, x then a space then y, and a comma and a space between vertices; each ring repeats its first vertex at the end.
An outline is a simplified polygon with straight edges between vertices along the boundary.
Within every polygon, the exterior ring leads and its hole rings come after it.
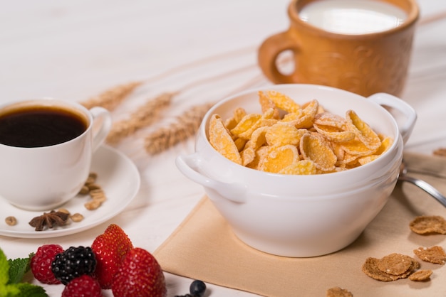
POLYGON ((279 71, 276 65, 276 60, 280 53, 285 50, 291 50, 294 55, 297 55, 301 50, 299 41, 296 38, 296 33, 292 31, 285 31, 277 33, 260 45, 258 52, 258 63, 264 75, 274 83, 293 83, 294 73, 296 73, 296 66, 293 72, 289 75, 284 75, 279 71))

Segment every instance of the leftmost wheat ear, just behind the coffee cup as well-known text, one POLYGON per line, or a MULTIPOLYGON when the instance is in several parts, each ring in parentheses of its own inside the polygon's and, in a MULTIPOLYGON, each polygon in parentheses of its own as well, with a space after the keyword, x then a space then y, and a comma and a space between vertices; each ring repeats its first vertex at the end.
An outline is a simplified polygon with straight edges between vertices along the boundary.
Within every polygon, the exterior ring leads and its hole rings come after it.
POLYGON ((91 97, 85 102, 81 102, 81 104, 87 109, 92 107, 103 107, 112 111, 141 84, 142 82, 128 82, 123 85, 111 87, 110 89, 101 92, 99 95, 91 97))

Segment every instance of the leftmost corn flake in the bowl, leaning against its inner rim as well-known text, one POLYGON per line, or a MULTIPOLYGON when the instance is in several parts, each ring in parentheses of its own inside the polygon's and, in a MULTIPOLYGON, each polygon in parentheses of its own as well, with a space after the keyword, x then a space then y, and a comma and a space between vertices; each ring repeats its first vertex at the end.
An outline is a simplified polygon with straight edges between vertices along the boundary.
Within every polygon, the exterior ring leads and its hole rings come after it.
POLYGON ((242 157, 232 140, 232 135, 217 114, 212 115, 209 123, 209 142, 224 157, 237 164, 242 164, 242 157))

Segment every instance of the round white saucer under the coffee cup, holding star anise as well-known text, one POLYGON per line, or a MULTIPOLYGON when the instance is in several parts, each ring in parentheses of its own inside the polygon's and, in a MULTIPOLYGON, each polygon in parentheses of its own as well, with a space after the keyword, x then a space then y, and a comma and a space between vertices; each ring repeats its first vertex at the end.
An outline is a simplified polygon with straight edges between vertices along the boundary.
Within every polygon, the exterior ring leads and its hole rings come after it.
POLYGON ((110 146, 101 146, 93 155, 91 172, 98 173, 96 183, 103 188, 107 200, 96 210, 87 210, 83 204, 90 200, 88 195, 78 196, 61 205, 72 214, 79 212, 84 216, 81 222, 70 222, 63 227, 35 231, 28 222, 42 211, 21 210, 0 198, 0 235, 21 238, 58 237, 78 233, 99 225, 118 215, 135 198, 140 188, 140 173, 135 164, 120 151, 110 146), (17 225, 6 225, 8 216, 17 219, 17 225))

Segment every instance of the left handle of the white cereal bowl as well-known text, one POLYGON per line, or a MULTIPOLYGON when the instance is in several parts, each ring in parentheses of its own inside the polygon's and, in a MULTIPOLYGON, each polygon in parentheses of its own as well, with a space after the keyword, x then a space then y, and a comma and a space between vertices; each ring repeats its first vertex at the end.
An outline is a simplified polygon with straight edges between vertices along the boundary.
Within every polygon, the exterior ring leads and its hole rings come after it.
MULTIPOLYGON (((193 153, 189 156, 177 156, 175 164, 177 168, 190 180, 199 183, 204 188, 211 188, 215 190, 219 195, 222 195, 228 200, 234 202, 246 202, 247 201, 247 187, 240 183, 224 183, 219 180, 214 180, 199 173, 199 163, 201 163, 197 153, 193 153)), ((210 197, 209 197, 210 198, 210 197)), ((212 198, 211 198, 212 199, 212 198)))

